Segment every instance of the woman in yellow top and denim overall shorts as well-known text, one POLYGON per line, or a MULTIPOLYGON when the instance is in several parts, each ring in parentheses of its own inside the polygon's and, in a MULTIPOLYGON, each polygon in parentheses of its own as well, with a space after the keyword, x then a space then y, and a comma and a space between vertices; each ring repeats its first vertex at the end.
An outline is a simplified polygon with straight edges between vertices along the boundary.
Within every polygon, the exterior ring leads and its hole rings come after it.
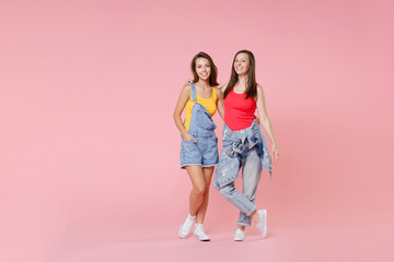
POLYGON ((178 230, 181 238, 190 235, 209 241, 202 223, 208 207, 209 188, 215 166, 219 163, 218 138, 212 116, 218 109, 224 118, 223 94, 218 86, 218 69, 209 55, 197 53, 192 60, 194 81, 186 84, 174 110, 174 121, 182 135, 181 167, 185 168, 193 184, 189 196, 189 214, 178 230), (185 109, 185 122, 182 112, 185 109))

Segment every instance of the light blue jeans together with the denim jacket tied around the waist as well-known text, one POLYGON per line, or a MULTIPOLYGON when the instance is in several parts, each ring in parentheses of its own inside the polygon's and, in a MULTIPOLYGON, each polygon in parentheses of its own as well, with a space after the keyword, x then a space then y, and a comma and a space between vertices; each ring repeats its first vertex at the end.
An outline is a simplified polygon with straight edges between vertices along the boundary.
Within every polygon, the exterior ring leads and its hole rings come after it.
POLYGON ((215 188, 240 210, 239 225, 251 225, 263 168, 270 171, 270 156, 258 124, 254 121, 250 128, 237 131, 224 124, 223 148, 215 174, 215 188), (241 168, 243 193, 234 188, 241 168))

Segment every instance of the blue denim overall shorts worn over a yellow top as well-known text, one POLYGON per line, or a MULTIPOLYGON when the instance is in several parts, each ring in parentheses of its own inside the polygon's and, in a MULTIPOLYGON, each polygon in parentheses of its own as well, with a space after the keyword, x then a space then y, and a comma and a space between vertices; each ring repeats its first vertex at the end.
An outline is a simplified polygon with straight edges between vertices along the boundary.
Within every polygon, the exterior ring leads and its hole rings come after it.
POLYGON ((219 163, 218 138, 215 134, 217 126, 213 123, 210 114, 197 103, 196 87, 192 83, 192 95, 195 102, 192 110, 189 130, 196 141, 181 142, 181 168, 198 165, 201 167, 216 166, 219 163))

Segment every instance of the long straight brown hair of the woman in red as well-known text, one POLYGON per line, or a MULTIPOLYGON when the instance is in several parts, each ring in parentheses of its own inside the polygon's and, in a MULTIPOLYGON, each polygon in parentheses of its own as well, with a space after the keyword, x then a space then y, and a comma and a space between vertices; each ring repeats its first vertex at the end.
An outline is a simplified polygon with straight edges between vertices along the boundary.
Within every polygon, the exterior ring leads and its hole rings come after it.
POLYGON ((256 95, 257 95, 257 83, 256 83, 256 61, 255 61, 255 58, 253 56, 253 53, 248 50, 241 50, 241 51, 237 51, 234 56, 234 59, 233 59, 233 63, 231 64, 231 76, 230 76, 230 81, 229 81, 229 84, 224 91, 224 98, 229 95, 230 91, 232 91, 234 88, 234 85, 236 84, 236 82, 239 81, 239 75, 237 73, 235 72, 235 69, 234 69, 234 62, 235 62, 235 58, 239 53, 241 52, 244 52, 248 56, 248 59, 250 59, 250 69, 247 71, 247 81, 245 83, 246 85, 246 91, 245 91, 245 94, 246 94, 246 97, 245 99, 247 99, 248 97, 253 97, 255 98, 256 95))

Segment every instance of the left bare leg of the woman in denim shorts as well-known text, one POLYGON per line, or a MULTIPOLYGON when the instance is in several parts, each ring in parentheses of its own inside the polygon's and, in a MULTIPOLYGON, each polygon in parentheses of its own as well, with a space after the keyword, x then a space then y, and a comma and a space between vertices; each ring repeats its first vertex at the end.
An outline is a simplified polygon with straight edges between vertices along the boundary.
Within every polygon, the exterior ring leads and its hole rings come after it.
POLYGON ((206 193, 206 182, 201 166, 186 166, 186 170, 193 183, 189 196, 189 214, 195 216, 206 193))

